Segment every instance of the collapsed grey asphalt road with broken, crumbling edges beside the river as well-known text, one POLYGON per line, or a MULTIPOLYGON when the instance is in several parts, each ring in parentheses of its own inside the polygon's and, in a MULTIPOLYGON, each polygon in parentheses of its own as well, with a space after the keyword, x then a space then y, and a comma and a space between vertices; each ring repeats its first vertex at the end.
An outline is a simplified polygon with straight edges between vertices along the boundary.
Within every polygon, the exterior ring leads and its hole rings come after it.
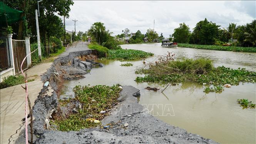
MULTIPOLYGON (((97 127, 68 132, 46 129, 49 127, 49 119, 57 110, 63 81, 83 78, 83 75, 92 69, 92 65, 99 64, 94 62, 95 59, 97 51, 94 50, 70 52, 68 56, 55 59, 50 69, 42 75, 41 79, 45 85, 33 106, 33 143, 216 143, 149 115, 137 101, 139 89, 132 86, 122 86, 120 97, 117 99, 119 104, 101 121, 102 125, 111 123, 111 128, 97 127)), ((28 126, 28 131, 29 128, 28 126)), ((30 140, 30 133, 28 135, 30 140)), ((24 131, 15 143, 25 143, 24 131)))

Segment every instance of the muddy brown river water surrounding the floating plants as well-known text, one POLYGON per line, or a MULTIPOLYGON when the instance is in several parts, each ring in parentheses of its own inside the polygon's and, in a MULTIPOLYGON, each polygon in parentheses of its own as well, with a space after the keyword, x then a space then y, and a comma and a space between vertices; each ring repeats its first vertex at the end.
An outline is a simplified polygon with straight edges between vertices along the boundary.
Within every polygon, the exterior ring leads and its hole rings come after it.
MULTIPOLYGON (((211 51, 191 48, 162 48, 160 43, 129 44, 122 48, 138 49, 163 55, 167 51, 174 52, 176 58, 208 58, 215 66, 224 65, 231 68, 246 68, 256 71, 256 53, 211 51)), ((146 61, 154 61, 150 57, 146 61)), ((132 67, 121 67, 125 62, 104 60, 102 68, 94 68, 84 79, 65 81, 62 95, 73 94, 75 85, 132 85, 139 88, 139 103, 147 107, 151 115, 174 126, 186 129, 205 138, 220 143, 256 143, 256 110, 244 109, 236 102, 238 98, 256 101, 256 83, 240 83, 238 86, 225 88, 222 93, 203 92, 204 86, 197 83, 183 82, 176 86, 137 83, 134 71, 142 67, 142 61, 132 61, 132 67), (145 87, 157 87, 157 92, 145 87), (169 114, 168 114, 169 113, 169 114)))

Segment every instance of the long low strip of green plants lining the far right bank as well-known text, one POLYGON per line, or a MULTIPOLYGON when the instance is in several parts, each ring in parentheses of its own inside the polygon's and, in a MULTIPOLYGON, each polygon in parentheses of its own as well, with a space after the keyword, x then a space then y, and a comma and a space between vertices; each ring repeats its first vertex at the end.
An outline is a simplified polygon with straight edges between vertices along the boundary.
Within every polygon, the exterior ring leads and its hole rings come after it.
POLYGON ((178 47, 209 49, 209 50, 217 50, 217 51, 256 52, 256 47, 215 46, 215 45, 180 44, 180 43, 178 44, 178 47))

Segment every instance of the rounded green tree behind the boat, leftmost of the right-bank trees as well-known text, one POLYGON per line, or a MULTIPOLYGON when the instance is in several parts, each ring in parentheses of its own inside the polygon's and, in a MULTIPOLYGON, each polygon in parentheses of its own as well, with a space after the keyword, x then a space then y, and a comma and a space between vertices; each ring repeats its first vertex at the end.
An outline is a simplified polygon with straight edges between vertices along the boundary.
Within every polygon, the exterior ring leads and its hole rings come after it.
POLYGON ((189 27, 185 23, 180 23, 179 28, 175 28, 172 34, 174 37, 173 41, 177 43, 187 43, 189 34, 189 27))

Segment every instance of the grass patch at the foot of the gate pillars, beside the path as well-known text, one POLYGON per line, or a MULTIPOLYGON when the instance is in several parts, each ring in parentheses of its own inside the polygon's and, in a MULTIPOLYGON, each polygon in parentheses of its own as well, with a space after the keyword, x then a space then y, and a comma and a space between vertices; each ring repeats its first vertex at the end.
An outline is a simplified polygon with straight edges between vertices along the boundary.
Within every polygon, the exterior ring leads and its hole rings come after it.
MULTIPOLYGON (((28 82, 32 82, 33 80, 34 79, 28 80, 28 82)), ((3 81, 0 83, 0 89, 12 87, 22 83, 25 83, 25 77, 23 75, 10 75, 8 77, 3 77, 3 81)))

